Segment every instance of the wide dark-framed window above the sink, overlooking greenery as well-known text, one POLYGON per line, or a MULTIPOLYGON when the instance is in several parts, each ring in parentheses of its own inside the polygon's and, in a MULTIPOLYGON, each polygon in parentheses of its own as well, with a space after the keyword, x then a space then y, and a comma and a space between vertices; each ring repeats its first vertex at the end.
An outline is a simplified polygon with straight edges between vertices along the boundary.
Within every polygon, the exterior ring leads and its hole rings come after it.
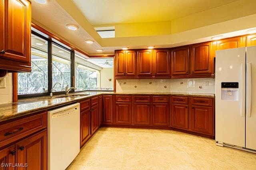
MULTIPOLYGON (((80 56, 67 45, 33 27, 31 37, 32 72, 18 73, 19 99, 48 96, 50 92, 64 94, 67 85, 75 86, 77 88, 75 91, 102 90, 100 74, 107 72, 107 70, 102 71, 103 67, 112 66, 113 59, 104 58, 94 62, 98 59, 80 56)), ((106 74, 105 79, 111 80, 106 74)), ((102 82, 104 80, 102 79, 102 82)))

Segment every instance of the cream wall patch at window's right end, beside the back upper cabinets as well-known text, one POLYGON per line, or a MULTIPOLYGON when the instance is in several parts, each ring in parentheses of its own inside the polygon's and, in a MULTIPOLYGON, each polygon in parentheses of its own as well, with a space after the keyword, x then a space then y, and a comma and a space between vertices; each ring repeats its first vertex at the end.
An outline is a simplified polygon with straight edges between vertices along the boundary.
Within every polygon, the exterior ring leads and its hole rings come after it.
POLYGON ((114 89, 114 68, 102 68, 100 71, 100 87, 114 89), (111 81, 108 79, 111 78, 111 81))

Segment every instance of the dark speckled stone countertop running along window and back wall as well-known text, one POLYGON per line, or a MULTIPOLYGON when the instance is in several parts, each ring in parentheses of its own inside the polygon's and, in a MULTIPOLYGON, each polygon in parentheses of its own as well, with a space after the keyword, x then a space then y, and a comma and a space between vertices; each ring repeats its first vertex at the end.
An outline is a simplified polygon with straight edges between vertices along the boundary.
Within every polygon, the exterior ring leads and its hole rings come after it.
MULTIPOLYGON (((77 102, 81 99, 92 98, 99 95, 119 94, 119 95, 175 95, 175 96, 197 96, 197 97, 212 97, 214 94, 202 94, 202 93, 177 93, 177 92, 77 92, 75 94, 84 94, 86 96, 80 97, 59 97, 63 95, 56 95, 53 98, 49 96, 29 98, 18 100, 18 102, 12 102, 7 104, 0 104, 0 122, 20 117, 22 115, 28 115, 37 111, 52 109, 54 107, 77 102)), ((72 94, 70 94, 72 95, 72 94)))

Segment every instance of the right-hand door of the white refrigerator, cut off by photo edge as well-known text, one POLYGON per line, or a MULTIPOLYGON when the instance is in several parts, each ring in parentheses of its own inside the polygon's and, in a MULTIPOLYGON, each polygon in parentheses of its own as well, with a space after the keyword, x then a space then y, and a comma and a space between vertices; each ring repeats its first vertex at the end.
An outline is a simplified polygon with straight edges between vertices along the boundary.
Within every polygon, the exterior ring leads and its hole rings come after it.
POLYGON ((246 48, 246 144, 256 150, 256 46, 246 48))

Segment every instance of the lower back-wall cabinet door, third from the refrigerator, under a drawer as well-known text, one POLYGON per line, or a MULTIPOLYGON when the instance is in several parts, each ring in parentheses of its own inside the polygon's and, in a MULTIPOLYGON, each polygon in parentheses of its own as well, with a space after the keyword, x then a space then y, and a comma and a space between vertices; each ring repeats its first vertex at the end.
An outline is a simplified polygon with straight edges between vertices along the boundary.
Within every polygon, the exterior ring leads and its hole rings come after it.
POLYGON ((160 126, 169 125, 169 104, 154 103, 152 112, 152 124, 160 126))

